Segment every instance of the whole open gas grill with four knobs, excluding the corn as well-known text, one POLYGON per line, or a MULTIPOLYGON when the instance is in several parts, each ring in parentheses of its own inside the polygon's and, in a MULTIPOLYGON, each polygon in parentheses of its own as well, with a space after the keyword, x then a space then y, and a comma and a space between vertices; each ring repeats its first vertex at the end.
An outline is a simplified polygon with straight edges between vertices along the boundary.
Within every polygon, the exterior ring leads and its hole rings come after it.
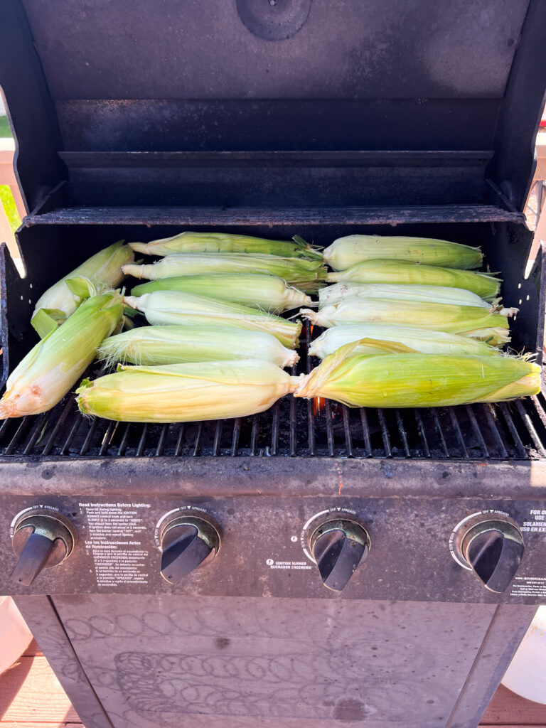
MULTIPOLYGON (((29 214, 2 381, 43 290, 183 229, 481 245, 541 362, 545 24, 539 0, 5 0, 29 214)), ((0 425, 0 544, 86 728, 473 728, 546 600, 545 396, 160 426, 70 395, 0 425)))

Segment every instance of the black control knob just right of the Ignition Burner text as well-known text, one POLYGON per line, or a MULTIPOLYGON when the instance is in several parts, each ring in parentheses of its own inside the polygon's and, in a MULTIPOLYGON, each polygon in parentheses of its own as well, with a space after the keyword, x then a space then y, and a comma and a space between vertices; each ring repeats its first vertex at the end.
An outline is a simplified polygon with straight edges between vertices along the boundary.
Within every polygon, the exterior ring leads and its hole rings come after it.
POLYGON ((331 519, 312 531, 309 547, 324 585, 341 591, 367 558, 370 536, 360 523, 347 518, 331 519))

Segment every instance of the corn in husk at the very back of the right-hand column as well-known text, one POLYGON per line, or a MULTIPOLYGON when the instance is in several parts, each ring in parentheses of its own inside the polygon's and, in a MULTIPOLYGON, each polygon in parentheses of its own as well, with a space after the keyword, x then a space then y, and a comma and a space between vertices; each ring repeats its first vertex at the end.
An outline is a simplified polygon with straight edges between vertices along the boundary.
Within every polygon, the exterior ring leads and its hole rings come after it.
POLYGON ((323 258, 331 268, 339 271, 376 258, 446 268, 478 268, 483 256, 479 248, 428 237, 347 235, 325 248, 323 258))

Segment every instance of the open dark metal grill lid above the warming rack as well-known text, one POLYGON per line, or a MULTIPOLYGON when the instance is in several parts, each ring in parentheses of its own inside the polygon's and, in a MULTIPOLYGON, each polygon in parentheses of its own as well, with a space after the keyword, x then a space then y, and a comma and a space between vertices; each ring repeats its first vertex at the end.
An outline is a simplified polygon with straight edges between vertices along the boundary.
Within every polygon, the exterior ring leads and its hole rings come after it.
POLYGON ((0 5, 33 201, 68 178, 80 205, 105 204, 109 184, 117 205, 191 205, 196 185, 200 204, 266 204, 260 178, 274 168, 277 190, 297 166, 295 205, 328 176, 323 197, 346 179, 352 204, 486 202, 489 175, 521 207, 546 86, 540 0, 0 5))

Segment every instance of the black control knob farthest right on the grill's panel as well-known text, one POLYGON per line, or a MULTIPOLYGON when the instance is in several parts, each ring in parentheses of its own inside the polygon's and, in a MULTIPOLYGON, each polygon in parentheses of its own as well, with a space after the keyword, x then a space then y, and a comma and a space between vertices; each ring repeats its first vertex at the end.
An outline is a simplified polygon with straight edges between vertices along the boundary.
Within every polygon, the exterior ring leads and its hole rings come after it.
POLYGON ((510 586, 524 548, 521 531, 507 519, 493 518, 475 523, 461 539, 465 561, 488 590, 498 593, 510 586))

